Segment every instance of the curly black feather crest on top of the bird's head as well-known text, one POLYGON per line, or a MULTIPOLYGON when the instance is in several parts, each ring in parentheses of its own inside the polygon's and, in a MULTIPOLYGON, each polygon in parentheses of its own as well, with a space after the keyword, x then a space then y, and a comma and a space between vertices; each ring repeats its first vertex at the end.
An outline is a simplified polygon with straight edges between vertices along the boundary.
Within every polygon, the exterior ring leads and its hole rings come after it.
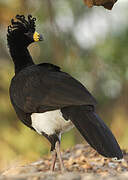
POLYGON ((23 32, 34 32, 35 31, 35 21, 36 18, 32 15, 28 15, 28 20, 25 19, 24 15, 16 15, 18 21, 11 20, 11 25, 8 26, 8 34, 11 34, 15 30, 21 30, 23 32))

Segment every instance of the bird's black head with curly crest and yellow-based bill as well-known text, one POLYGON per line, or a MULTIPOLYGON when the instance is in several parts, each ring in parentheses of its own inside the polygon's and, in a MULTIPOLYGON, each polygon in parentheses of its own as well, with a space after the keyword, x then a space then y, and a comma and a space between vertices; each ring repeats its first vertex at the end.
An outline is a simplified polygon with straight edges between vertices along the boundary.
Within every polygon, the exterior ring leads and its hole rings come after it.
POLYGON ((17 21, 11 20, 8 26, 7 40, 8 44, 27 47, 32 42, 42 41, 43 37, 35 31, 35 21, 31 15, 25 19, 24 15, 16 15, 17 21))

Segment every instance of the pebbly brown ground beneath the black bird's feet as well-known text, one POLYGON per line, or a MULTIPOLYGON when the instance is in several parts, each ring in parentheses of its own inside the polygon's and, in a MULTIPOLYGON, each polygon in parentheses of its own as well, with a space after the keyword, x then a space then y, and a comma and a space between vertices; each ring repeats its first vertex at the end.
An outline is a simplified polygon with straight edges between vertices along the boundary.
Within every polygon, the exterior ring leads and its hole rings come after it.
POLYGON ((51 156, 2 172, 0 180, 125 180, 128 179, 128 153, 124 161, 115 162, 100 156, 89 145, 78 144, 62 151, 66 172, 61 173, 59 163, 55 172, 49 171, 51 156))

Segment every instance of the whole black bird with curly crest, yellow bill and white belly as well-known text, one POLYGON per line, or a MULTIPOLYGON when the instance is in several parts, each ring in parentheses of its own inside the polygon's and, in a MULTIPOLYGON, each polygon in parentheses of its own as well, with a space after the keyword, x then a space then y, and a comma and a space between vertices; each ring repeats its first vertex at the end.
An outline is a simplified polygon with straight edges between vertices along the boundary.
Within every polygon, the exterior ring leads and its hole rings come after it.
POLYGON ((48 63, 34 64, 27 47, 43 40, 35 31, 35 18, 17 15, 8 26, 7 41, 15 66, 10 99, 18 118, 51 143, 54 170, 56 157, 61 170, 61 134, 75 125, 101 155, 120 160, 122 151, 110 129, 95 113, 96 101, 76 79, 48 63))

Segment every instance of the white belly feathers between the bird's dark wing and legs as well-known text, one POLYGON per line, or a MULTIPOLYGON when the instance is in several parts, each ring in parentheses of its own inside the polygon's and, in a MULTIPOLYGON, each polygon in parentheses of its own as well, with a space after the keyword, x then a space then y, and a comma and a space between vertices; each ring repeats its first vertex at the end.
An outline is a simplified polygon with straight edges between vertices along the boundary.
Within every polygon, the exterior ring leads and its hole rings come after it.
POLYGON ((39 133, 52 135, 55 132, 63 133, 70 130, 73 124, 65 120, 60 110, 48 111, 45 113, 32 113, 32 127, 39 133))

